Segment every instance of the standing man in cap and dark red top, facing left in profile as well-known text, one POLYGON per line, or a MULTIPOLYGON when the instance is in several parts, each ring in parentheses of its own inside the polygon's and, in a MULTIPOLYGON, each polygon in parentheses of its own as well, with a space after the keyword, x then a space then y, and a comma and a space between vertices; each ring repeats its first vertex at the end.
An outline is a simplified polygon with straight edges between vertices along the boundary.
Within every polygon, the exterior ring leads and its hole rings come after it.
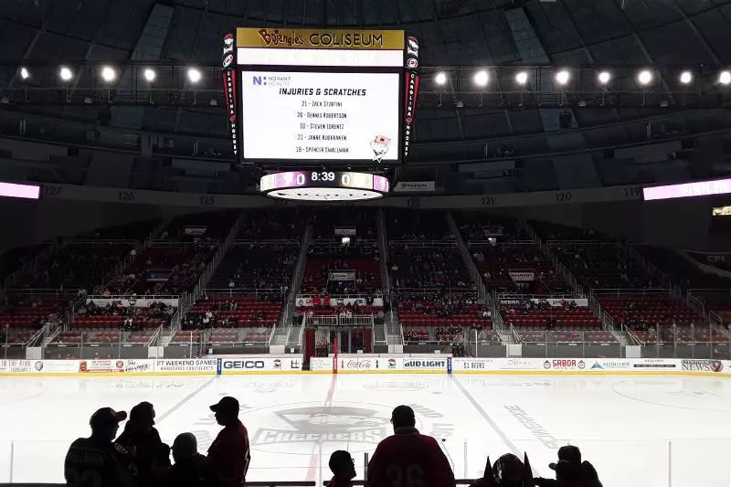
POLYGON ((238 420, 238 400, 222 397, 211 411, 223 429, 208 448, 210 471, 217 487, 241 487, 246 482, 251 455, 249 432, 238 420))

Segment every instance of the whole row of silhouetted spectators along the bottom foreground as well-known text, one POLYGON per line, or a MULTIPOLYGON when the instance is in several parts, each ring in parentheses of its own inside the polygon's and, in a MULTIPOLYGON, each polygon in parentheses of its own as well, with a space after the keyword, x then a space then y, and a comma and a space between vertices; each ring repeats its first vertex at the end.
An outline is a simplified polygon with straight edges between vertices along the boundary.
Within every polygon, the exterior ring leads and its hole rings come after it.
MULTIPOLYGON (((154 428, 156 414, 149 402, 132 408, 129 420, 126 412, 100 408, 90 418, 90 437, 76 439, 69 446, 64 461, 66 482, 82 485, 81 480, 96 479, 109 487, 242 487, 252 457, 249 431, 238 418, 238 400, 222 397, 210 410, 222 429, 203 455, 190 432, 180 433, 172 448, 164 443, 154 428)), ((393 435, 378 443, 368 461, 368 485, 390 486, 396 471, 408 472, 409 482, 415 485, 456 487, 449 458, 437 439, 418 431, 412 408, 394 408, 390 423, 393 435)), ((582 461, 576 446, 561 447, 557 457, 549 464, 556 479, 534 478, 527 454, 522 461, 512 453, 494 463, 488 457, 482 477, 471 487, 601 487, 598 472, 582 461)), ((350 452, 335 450, 328 466, 333 472, 329 487, 353 487, 356 471, 350 452)))

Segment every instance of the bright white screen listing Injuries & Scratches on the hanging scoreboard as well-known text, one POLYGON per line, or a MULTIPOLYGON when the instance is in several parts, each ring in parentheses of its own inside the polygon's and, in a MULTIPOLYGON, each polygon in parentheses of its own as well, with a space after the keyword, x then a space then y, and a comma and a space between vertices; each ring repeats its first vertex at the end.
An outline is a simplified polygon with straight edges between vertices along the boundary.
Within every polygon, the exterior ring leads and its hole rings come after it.
POLYGON ((400 158, 398 73, 243 71, 241 85, 245 160, 400 158))

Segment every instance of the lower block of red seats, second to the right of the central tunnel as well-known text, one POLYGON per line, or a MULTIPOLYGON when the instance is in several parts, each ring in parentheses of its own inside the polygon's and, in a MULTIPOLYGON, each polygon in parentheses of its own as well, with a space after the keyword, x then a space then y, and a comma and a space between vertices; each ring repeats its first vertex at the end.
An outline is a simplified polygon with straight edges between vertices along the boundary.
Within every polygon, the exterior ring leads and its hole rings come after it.
POLYGON ((562 306, 551 306, 547 309, 533 308, 525 311, 522 306, 503 306, 500 310, 505 324, 521 329, 546 329, 546 321, 556 320, 556 328, 569 330, 599 329, 599 318, 585 307, 570 309, 562 306))

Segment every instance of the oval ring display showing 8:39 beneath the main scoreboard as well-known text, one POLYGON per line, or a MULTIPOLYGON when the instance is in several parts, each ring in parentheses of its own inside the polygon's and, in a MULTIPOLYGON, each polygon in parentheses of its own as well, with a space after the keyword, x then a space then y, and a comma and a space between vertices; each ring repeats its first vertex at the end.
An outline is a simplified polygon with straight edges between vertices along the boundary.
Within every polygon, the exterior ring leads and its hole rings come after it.
POLYGON ((382 175, 352 171, 289 171, 264 175, 261 193, 276 198, 309 201, 351 201, 387 195, 382 175))

